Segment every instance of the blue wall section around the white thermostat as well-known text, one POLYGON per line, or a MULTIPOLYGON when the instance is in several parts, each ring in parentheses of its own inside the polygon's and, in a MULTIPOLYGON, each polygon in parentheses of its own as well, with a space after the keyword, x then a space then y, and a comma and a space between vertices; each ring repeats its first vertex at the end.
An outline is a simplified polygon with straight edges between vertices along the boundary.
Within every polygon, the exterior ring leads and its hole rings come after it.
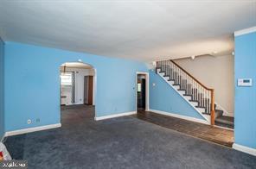
POLYGON ((235 37, 234 141, 256 148, 256 33, 235 37), (238 78, 253 78, 253 87, 238 87, 238 78))

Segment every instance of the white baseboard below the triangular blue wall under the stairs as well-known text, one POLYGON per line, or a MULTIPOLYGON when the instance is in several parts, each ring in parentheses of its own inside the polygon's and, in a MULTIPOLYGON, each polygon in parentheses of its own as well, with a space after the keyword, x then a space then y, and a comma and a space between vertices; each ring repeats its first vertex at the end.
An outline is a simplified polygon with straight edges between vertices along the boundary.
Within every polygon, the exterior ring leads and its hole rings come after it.
POLYGON ((209 122, 207 122, 206 120, 202 120, 202 119, 198 119, 198 118, 190 117, 190 116, 178 115, 176 113, 170 113, 170 112, 161 111, 161 110, 150 110, 150 112, 157 113, 160 115, 165 115, 165 116, 173 116, 176 118, 181 118, 181 119, 192 121, 192 122, 200 122, 203 124, 209 124, 209 122))

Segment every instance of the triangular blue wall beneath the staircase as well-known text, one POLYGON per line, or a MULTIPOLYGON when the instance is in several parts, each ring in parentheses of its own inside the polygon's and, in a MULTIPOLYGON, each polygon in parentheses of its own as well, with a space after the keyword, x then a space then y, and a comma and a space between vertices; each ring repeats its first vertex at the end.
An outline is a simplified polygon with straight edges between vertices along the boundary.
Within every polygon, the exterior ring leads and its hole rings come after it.
POLYGON ((154 71, 150 71, 150 109, 204 120, 184 98, 171 88, 170 84, 167 84, 154 71), (153 83, 156 85, 153 86, 153 83))

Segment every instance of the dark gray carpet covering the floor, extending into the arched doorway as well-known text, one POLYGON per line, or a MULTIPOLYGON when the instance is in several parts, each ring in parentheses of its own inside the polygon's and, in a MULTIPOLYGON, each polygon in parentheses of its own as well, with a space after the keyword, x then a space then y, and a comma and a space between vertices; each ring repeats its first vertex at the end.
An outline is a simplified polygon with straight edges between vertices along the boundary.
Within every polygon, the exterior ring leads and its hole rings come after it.
POLYGON ((256 168, 256 157, 136 117, 93 121, 93 107, 62 109, 62 127, 5 142, 29 168, 256 168))

